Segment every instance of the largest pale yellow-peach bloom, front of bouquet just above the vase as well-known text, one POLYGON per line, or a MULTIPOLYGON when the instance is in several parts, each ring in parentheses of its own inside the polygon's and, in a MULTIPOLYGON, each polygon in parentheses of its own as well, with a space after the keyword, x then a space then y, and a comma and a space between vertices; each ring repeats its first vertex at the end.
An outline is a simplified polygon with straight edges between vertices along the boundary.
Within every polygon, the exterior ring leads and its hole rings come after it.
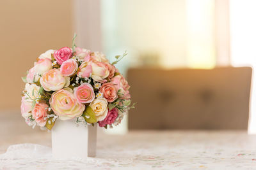
POLYGON ((49 104, 52 111, 59 116, 60 120, 80 117, 85 109, 84 104, 77 101, 70 88, 54 92, 49 100, 49 104))

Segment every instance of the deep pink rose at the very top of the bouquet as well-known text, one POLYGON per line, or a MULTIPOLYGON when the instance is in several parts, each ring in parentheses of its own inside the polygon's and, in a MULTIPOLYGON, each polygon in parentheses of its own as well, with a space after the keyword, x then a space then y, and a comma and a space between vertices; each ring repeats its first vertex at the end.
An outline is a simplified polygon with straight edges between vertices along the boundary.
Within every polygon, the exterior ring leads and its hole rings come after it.
POLYGON ((54 59, 58 62, 58 64, 62 64, 65 60, 68 60, 72 56, 72 49, 65 46, 60 48, 60 50, 56 50, 53 53, 54 59))

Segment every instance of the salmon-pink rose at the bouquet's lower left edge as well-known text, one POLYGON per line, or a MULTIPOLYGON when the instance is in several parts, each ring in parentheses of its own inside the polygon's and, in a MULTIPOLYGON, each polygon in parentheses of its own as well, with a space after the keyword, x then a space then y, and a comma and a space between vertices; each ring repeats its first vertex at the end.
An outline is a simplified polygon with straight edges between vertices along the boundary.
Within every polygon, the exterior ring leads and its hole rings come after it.
POLYGON ((47 108, 46 103, 36 103, 32 110, 32 117, 40 127, 44 127, 47 121, 47 108))

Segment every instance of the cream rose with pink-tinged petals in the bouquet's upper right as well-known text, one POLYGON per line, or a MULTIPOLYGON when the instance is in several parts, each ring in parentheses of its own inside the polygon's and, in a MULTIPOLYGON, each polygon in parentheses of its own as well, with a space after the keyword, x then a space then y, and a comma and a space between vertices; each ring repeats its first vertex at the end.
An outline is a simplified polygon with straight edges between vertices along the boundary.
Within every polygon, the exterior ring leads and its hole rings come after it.
POLYGON ((104 80, 109 76, 108 67, 104 62, 91 62, 92 66, 92 79, 104 83, 107 80, 104 80))

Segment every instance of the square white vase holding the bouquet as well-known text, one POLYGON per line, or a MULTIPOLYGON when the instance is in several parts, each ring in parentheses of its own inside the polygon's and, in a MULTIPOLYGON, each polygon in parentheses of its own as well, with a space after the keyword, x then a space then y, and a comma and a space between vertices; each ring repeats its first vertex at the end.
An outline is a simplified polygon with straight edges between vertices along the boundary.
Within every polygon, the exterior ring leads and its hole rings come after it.
POLYGON ((76 125, 76 118, 56 120, 51 130, 52 157, 70 159, 95 157, 97 125, 76 125))

